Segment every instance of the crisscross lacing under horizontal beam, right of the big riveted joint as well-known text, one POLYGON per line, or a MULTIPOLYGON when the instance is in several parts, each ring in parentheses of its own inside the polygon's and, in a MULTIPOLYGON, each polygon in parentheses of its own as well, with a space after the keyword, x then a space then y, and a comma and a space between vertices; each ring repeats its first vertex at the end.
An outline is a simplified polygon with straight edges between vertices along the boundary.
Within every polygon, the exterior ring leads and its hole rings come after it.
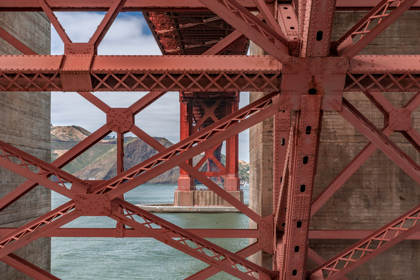
POLYGON ((355 91, 355 89, 353 88, 353 86, 359 86, 360 89, 362 89, 362 91, 367 91, 367 90, 373 90, 373 91, 380 91, 380 92, 417 92, 420 89, 420 77, 417 79, 414 76, 412 76, 412 73, 407 72, 402 74, 401 76, 398 75, 399 77, 394 77, 394 75, 392 75, 391 73, 386 73, 383 74, 382 76, 380 76, 379 78, 375 78, 375 76, 372 75, 373 72, 367 72, 364 75, 360 76, 359 78, 355 77, 355 73, 351 73, 351 72, 347 72, 347 75, 354 81, 352 84, 350 84, 349 86, 346 86, 346 88, 344 89, 345 92, 352 92, 355 91), (407 83, 407 78, 409 77, 409 79, 411 80, 411 83, 408 84, 407 86, 402 85, 400 82, 404 80, 405 83, 407 83), (373 83, 367 85, 367 86, 363 86, 361 84, 362 81, 366 81, 367 79, 372 79, 373 83), (391 81, 384 81, 385 78, 390 78, 391 81), (381 84, 382 82, 382 84, 381 84), (387 84, 387 85, 383 85, 383 84, 387 84), (378 87, 378 88, 373 88, 374 86, 378 87), (394 86, 397 86, 398 88, 392 88, 394 86))

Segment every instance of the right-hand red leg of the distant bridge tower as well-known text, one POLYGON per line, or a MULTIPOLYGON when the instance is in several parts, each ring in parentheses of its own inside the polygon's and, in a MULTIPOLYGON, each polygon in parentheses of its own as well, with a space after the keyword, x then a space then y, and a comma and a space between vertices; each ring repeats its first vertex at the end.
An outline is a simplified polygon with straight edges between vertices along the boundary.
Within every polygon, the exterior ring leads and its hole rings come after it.
MULTIPOLYGON (((239 100, 234 105, 226 105, 227 114, 234 113, 239 110, 239 100)), ((226 140, 226 170, 227 175, 225 178, 226 191, 239 191, 241 188, 238 170, 239 161, 239 135, 226 140)))

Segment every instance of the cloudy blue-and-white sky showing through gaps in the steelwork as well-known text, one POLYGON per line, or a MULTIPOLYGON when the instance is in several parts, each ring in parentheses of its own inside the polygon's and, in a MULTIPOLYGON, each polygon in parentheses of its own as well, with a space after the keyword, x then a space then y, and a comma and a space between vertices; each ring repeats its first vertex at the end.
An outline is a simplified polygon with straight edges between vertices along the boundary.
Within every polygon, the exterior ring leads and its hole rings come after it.
MULTIPOLYGON (((73 42, 87 42, 105 13, 56 12, 60 24, 73 42)), ((63 54, 64 44, 51 26, 51 54, 63 54)), ((102 55, 161 55, 142 13, 120 13, 98 47, 102 55)), ((110 107, 128 107, 146 92, 94 93, 110 107)), ((241 92, 239 107, 249 104, 249 93, 241 92)), ((81 126, 90 132, 105 123, 105 113, 75 92, 51 92, 53 126, 81 126)), ((178 92, 168 92, 136 115, 136 125, 151 136, 179 141, 178 92)), ((116 135, 116 133, 111 133, 116 135)), ((127 133, 127 136, 134 136, 127 133)), ((223 149, 224 150, 224 149, 223 149)), ((249 131, 239 134, 239 159, 249 162, 249 131)))

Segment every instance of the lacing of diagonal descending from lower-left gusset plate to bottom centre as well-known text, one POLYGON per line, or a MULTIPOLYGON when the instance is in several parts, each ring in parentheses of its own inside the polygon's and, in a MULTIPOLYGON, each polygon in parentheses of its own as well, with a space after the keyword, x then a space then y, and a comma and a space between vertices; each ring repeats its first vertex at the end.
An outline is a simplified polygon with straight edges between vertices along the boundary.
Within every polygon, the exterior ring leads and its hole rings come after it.
MULTIPOLYGON (((139 222, 141 225, 145 225, 153 230, 158 230, 160 233, 165 234, 166 236, 169 236, 169 233, 175 233, 175 237, 171 237, 172 239, 183 243, 185 246, 188 246, 190 248, 193 248, 197 251, 200 251, 202 254, 205 254, 207 256, 211 256, 214 259, 217 259, 218 261, 222 261, 223 259, 228 259, 228 264, 237 270, 241 270, 241 267, 244 268, 246 274, 255 277, 252 275, 252 272, 257 272, 256 269, 249 267, 246 263, 242 262, 241 260, 238 260, 235 258, 234 253, 227 254, 226 252, 220 251, 220 249, 213 247, 213 243, 202 243, 201 241, 197 240, 193 236, 189 236, 184 232, 181 232, 177 230, 176 228, 171 228, 169 225, 163 225, 161 222, 154 220, 153 217, 147 216, 139 211, 137 209, 128 207, 126 205, 120 204, 121 207, 124 209, 126 214, 124 214, 126 217, 130 217, 132 220, 136 221, 133 216, 139 216, 141 217, 144 222, 139 222), (156 225, 157 227, 152 227, 152 225, 156 225), (177 239, 179 238, 179 239, 177 239), (189 241, 189 242, 187 242, 189 241), (241 267, 238 267, 237 265, 240 265, 241 267)), ((136 221, 137 222, 137 221, 136 221)), ((222 248, 223 249, 223 248, 222 248)))

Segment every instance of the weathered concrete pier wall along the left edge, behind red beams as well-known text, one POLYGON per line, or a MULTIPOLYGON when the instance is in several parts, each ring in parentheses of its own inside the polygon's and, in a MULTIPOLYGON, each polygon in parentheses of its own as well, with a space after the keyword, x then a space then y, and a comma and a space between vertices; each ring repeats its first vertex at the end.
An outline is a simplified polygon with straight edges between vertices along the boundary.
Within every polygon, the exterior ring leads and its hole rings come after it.
MULTIPOLYGON (((51 23, 45 13, 0 12, 0 27, 39 55, 50 54, 51 23)), ((0 38, 0 55, 21 54, 0 38)), ((0 92, 1 140, 50 162, 50 100, 50 92, 0 92)), ((26 178, 0 167, 0 181, 2 198, 24 183, 26 178)), ((21 227, 50 210, 50 189, 37 186, 0 213, 0 227, 21 227)), ((51 238, 39 238, 13 253, 50 272, 51 238)), ((0 262, 0 279, 32 278, 0 262)))

